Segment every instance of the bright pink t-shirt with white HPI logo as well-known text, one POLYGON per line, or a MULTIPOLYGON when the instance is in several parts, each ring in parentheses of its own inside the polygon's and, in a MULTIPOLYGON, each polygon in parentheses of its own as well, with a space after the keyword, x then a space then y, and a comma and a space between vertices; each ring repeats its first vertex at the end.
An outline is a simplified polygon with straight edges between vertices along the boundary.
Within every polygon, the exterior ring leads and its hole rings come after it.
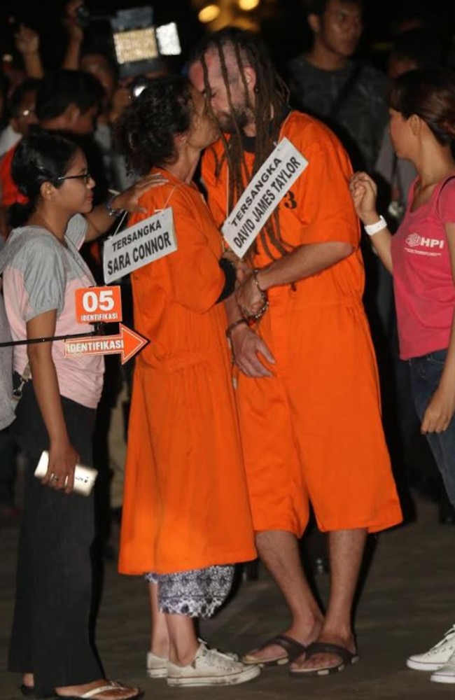
POLYGON ((407 360, 449 345, 455 285, 444 224, 455 223, 455 178, 437 185, 428 202, 411 211, 392 238, 393 288, 400 357, 407 360))

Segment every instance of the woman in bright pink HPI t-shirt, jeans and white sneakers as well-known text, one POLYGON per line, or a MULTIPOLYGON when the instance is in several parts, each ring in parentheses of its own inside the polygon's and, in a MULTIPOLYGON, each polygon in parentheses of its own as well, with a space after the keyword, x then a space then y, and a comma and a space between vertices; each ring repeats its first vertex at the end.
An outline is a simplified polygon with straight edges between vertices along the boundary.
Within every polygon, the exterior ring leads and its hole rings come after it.
MULTIPOLYGON (((377 188, 366 173, 351 179, 357 214, 391 274, 400 357, 409 363, 412 396, 455 505, 455 71, 414 70, 395 80, 390 132, 399 158, 417 177, 405 217, 392 237, 377 214, 377 188)), ((455 627, 407 666, 455 683, 455 627), (454 652, 454 653, 452 653, 454 652)))

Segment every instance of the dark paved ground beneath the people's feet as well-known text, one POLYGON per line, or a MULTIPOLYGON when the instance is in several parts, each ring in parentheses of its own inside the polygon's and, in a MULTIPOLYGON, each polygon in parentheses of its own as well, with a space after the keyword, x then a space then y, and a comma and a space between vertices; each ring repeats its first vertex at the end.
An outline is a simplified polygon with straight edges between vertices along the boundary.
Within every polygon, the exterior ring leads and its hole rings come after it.
MULTIPOLYGON (((360 663, 328 678, 289 678, 286 666, 264 671, 260 678, 234 688, 178 690, 144 674, 148 648, 148 603, 145 584, 106 566, 99 615, 99 651, 111 678, 141 685, 146 697, 188 700, 328 699, 433 700, 453 697, 455 686, 431 683, 424 673, 409 671, 406 657, 425 650, 454 622, 453 526, 436 523, 435 507, 417 504, 414 523, 377 538, 370 571, 356 613, 360 663)), ((13 605, 17 530, 0 533, 0 699, 19 697, 18 676, 5 672, 6 645, 13 605)), ((316 577, 324 599, 326 575, 316 577)), ((241 584, 221 613, 202 626, 211 645, 244 652, 286 629, 286 610, 267 575, 241 584)))

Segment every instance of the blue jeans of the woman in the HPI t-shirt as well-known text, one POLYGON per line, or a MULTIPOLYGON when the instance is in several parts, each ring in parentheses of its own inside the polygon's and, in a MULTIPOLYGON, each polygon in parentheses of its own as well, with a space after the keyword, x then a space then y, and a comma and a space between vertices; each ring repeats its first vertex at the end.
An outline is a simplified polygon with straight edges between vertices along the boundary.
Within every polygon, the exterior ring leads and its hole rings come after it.
MULTIPOLYGON (((446 357, 447 350, 436 350, 408 360, 412 398, 420 420, 439 386, 446 357)), ((426 439, 441 472, 447 496, 455 507, 455 417, 451 419, 447 430, 443 433, 428 433, 426 439)))

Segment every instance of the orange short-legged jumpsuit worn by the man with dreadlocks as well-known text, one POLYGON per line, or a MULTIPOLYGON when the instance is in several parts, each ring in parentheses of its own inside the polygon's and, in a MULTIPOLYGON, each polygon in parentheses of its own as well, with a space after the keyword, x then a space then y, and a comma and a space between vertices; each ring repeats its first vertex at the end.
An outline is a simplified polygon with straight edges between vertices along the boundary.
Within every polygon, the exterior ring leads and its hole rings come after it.
MULTIPOLYGON (((281 236, 294 246, 346 241, 354 252, 329 269, 268 290, 255 329, 276 360, 272 378, 239 373, 237 405, 256 531, 302 535, 309 500, 322 531, 379 531, 401 521, 381 426, 374 350, 362 304, 364 271, 349 195, 351 166, 324 125, 291 112, 281 137, 309 165, 279 204, 281 236)), ((227 207, 227 165, 215 179, 206 151, 202 177, 218 225, 227 207)), ((252 164, 253 155, 246 154, 252 164)), ((278 251, 276 258, 279 257, 278 251)), ((258 237, 255 267, 268 265, 258 237)))

